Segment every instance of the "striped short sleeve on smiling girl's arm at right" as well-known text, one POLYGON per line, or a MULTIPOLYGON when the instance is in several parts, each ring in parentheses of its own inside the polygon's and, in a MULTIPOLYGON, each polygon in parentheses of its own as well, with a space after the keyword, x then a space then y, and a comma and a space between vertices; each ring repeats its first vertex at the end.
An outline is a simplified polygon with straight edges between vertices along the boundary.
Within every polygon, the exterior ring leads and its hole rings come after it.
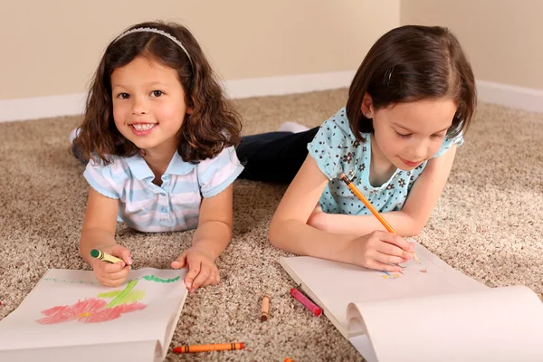
POLYGON ((243 171, 235 149, 224 148, 214 158, 208 158, 196 165, 200 192, 204 197, 213 197, 220 194, 243 171))

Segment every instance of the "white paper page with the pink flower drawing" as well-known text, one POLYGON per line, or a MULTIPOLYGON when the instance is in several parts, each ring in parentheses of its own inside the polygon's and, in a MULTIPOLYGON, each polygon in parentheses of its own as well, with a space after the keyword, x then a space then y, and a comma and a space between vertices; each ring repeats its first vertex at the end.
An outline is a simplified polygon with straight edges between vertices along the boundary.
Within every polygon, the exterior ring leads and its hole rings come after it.
POLYGON ((128 281, 118 288, 104 287, 92 271, 47 271, 21 305, 0 321, 0 351, 138 341, 169 343, 173 331, 167 328, 187 294, 185 276, 186 269, 130 271, 133 288, 127 291, 128 281), (126 298, 115 295, 123 291, 126 298), (84 307, 77 304, 80 301, 86 303, 84 307), (58 308, 56 313, 43 313, 54 307, 58 308), (90 323, 91 318, 100 321, 90 323))

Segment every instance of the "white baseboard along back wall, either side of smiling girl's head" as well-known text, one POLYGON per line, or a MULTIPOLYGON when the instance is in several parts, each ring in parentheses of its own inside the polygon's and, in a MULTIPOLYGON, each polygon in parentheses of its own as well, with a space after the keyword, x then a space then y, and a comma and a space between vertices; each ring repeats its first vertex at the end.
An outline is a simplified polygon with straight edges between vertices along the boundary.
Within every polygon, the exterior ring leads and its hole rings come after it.
MULTIPOLYGON (((334 71, 224 81, 224 90, 233 99, 332 90, 348 87, 354 74, 355 71, 334 71)), ((82 114, 85 96, 76 93, 0 100, 0 122, 82 114)))

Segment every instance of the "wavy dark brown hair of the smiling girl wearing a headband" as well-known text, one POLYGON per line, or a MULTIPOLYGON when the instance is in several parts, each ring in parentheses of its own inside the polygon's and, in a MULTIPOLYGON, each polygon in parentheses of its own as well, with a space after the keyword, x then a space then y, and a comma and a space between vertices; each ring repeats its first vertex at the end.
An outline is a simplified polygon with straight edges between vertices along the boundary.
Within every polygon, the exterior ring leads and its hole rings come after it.
POLYGON ((129 33, 108 45, 91 81, 81 132, 73 141, 72 153, 78 157, 111 163, 110 156, 130 157, 145 150, 124 138, 113 120, 111 74, 117 68, 146 57, 176 70, 186 94, 186 114, 178 134, 177 151, 186 162, 198 163, 213 158, 224 148, 237 146, 242 123, 239 114, 226 100, 204 52, 186 27, 175 23, 148 22, 130 26, 155 28, 173 35, 186 53, 167 36, 158 33, 129 33), (191 64, 192 61, 192 64, 191 64))

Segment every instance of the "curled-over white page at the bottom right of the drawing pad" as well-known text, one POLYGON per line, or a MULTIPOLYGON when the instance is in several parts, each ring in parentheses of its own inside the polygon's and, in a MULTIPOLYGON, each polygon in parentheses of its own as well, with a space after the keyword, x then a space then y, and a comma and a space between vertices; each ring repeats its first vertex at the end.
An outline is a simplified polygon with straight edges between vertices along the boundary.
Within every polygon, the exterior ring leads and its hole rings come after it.
MULTIPOLYGON (((373 353, 395 361, 543 361, 543 305, 524 286, 350 304, 364 319, 373 353)), ((366 336, 364 336, 366 337, 366 336)))

